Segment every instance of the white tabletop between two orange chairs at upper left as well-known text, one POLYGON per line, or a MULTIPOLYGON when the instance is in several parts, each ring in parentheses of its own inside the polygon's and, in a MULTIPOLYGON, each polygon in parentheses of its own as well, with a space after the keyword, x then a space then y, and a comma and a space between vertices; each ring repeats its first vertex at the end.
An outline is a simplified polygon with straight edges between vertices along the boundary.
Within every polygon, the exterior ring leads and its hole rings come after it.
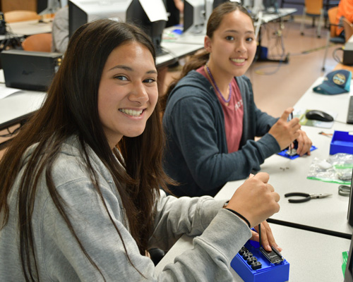
POLYGON ((36 35, 38 33, 52 32, 52 23, 38 23, 38 20, 26 20, 18 23, 6 23, 8 35, 0 35, 0 40, 13 36, 36 35))

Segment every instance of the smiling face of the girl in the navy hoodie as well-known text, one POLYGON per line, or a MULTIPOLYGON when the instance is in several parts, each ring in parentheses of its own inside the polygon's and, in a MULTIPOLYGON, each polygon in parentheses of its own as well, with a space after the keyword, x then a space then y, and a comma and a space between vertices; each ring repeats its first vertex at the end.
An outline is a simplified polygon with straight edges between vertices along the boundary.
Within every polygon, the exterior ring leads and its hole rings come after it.
POLYGON ((220 78, 244 75, 256 54, 256 40, 251 18, 241 11, 227 13, 213 37, 205 37, 210 52, 208 66, 220 78))

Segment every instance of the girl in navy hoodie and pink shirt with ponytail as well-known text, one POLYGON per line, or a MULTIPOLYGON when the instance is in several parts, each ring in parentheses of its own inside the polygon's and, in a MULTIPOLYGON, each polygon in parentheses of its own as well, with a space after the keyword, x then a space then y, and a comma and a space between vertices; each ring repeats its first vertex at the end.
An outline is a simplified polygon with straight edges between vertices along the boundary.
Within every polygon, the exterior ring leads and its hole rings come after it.
POLYGON ((294 140, 300 156, 310 154, 311 140, 299 119, 287 122, 292 108, 278 119, 256 107, 244 76, 255 54, 246 9, 236 2, 217 6, 208 20, 205 49, 186 63, 163 97, 164 169, 179 183, 169 185, 174 195, 215 196, 228 181, 259 171, 266 158, 294 140))

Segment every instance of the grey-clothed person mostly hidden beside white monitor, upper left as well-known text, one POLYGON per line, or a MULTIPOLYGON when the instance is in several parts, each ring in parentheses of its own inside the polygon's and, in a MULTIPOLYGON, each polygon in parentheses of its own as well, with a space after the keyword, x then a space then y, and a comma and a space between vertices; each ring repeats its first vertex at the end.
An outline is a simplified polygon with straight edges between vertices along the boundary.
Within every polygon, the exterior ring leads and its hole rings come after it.
POLYGON ((68 45, 68 6, 55 13, 52 25, 52 52, 64 54, 68 45))

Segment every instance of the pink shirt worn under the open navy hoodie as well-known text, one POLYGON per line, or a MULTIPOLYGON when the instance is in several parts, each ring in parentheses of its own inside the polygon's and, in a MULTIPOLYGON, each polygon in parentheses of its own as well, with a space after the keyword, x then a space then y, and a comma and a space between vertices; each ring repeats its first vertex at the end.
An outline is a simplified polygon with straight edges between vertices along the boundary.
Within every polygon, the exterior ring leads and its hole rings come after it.
MULTIPOLYGON (((196 71, 208 79, 208 75, 205 73, 205 68, 203 66, 196 71)), ((217 90, 215 90, 225 116, 225 135, 227 138, 228 153, 236 152, 239 149, 241 135, 243 134, 244 116, 243 99, 241 98, 237 80, 234 78, 232 79, 231 86, 232 97, 230 98, 228 106, 222 100, 217 90)))

